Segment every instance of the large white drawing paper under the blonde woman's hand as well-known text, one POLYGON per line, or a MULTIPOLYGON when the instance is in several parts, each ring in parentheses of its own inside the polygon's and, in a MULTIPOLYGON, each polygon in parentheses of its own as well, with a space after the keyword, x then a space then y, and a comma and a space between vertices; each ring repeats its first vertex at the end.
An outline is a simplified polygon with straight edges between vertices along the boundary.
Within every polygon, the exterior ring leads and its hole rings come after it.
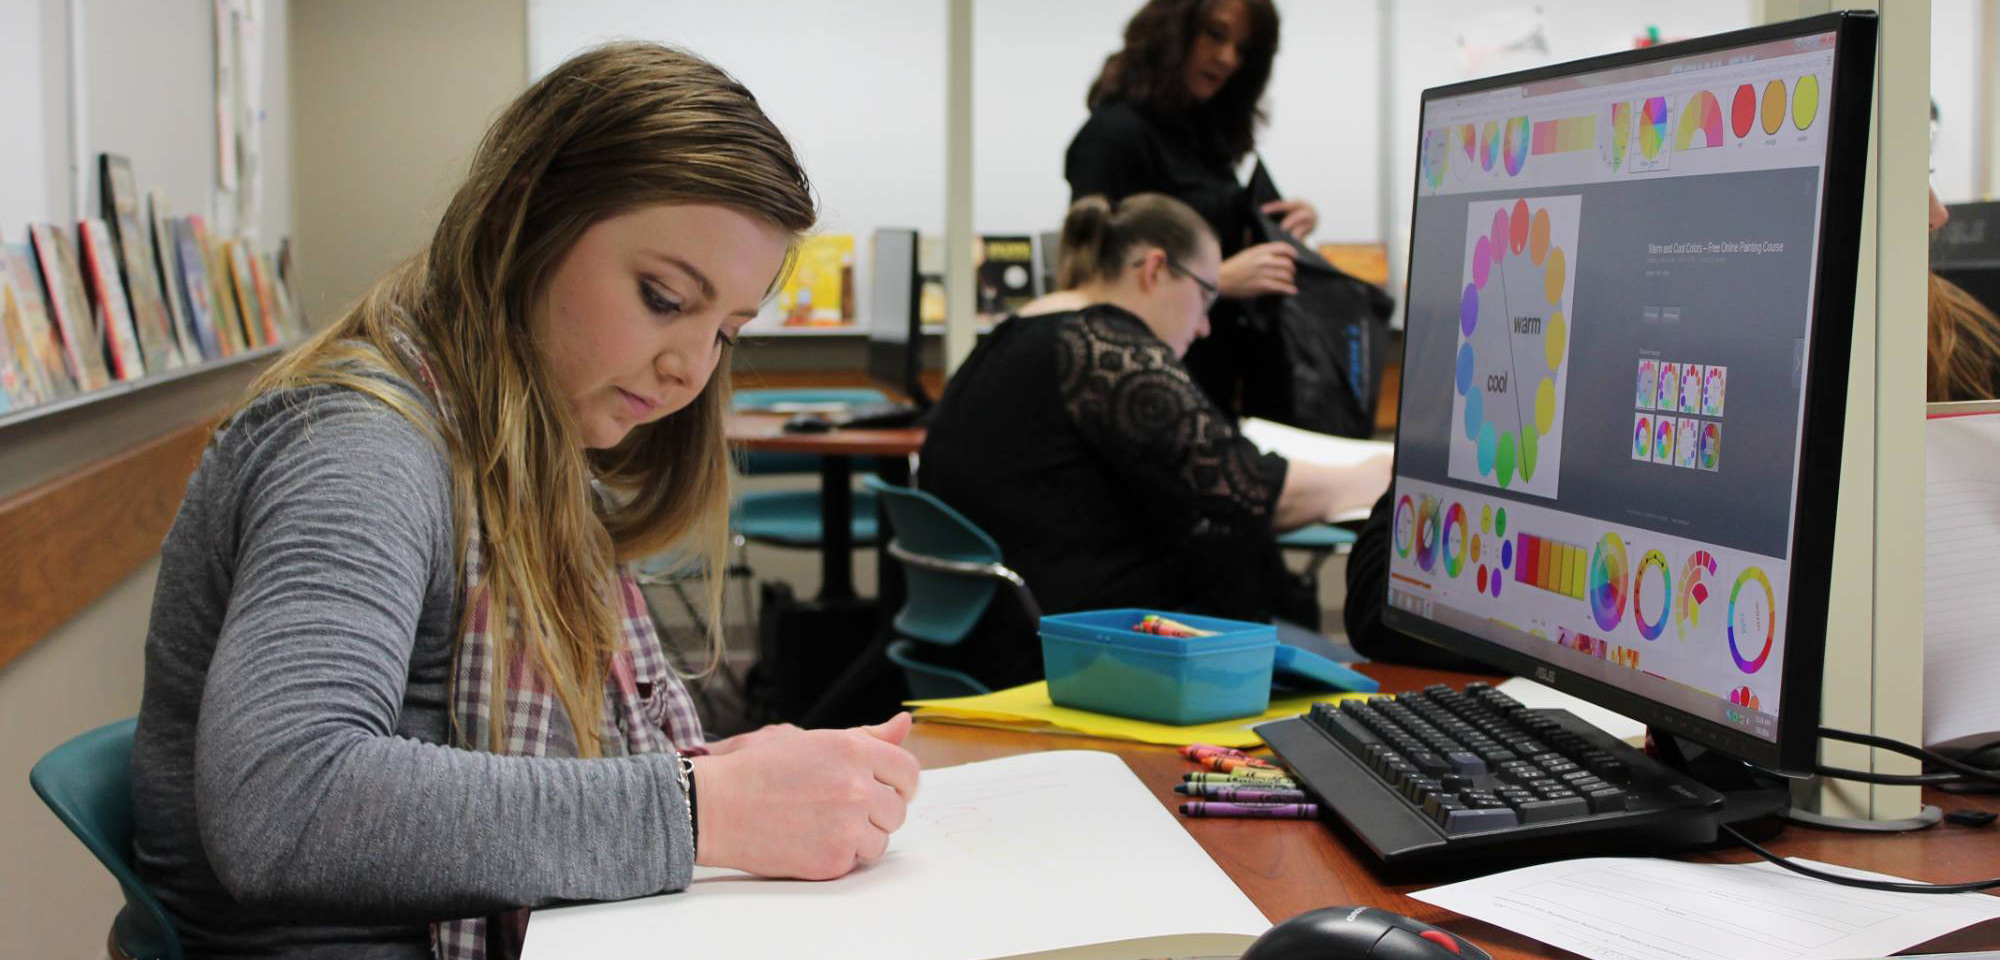
POLYGON ((684 894, 536 912, 524 958, 982 960, 1268 926, 1124 760, 1060 750, 924 770, 888 856, 840 880, 698 870, 684 894))

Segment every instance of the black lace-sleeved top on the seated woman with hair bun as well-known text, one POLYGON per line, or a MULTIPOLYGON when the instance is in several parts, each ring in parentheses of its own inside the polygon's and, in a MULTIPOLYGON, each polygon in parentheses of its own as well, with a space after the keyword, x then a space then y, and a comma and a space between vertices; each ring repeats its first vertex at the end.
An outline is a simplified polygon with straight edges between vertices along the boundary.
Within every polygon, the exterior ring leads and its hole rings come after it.
MULTIPOLYGON (((1284 470, 1144 322, 1092 306, 1012 318, 980 342, 938 402, 918 482, 1000 544, 1042 612, 1268 620, 1284 470)), ((986 666, 1040 676, 1032 630, 1008 650, 1018 662, 986 666)))

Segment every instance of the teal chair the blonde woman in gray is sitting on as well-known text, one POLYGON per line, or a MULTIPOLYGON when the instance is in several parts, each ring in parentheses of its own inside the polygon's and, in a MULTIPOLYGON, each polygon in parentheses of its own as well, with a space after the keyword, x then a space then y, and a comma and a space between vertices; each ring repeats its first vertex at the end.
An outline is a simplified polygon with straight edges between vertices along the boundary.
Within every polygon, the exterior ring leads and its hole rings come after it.
POLYGON ((132 960, 182 960, 180 936, 160 900, 132 870, 132 730, 118 720, 54 748, 28 772, 28 784, 84 846, 96 854, 126 906, 112 920, 110 954, 132 960))

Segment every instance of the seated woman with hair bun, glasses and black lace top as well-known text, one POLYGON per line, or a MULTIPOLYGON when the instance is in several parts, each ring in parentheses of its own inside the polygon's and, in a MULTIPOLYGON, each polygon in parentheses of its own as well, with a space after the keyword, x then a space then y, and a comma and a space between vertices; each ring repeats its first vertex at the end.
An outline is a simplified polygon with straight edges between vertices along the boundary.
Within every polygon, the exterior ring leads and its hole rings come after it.
MULTIPOLYGON (((1062 224, 1072 290, 996 326, 946 384, 920 484, 998 540, 1044 612, 1318 624, 1276 532, 1374 500, 1388 458, 1340 470, 1260 454, 1194 386, 1180 358, 1208 334, 1220 268, 1188 204, 1082 198, 1062 224)), ((1020 638, 984 624, 940 662, 990 686, 1034 680, 1040 648, 1020 638)))

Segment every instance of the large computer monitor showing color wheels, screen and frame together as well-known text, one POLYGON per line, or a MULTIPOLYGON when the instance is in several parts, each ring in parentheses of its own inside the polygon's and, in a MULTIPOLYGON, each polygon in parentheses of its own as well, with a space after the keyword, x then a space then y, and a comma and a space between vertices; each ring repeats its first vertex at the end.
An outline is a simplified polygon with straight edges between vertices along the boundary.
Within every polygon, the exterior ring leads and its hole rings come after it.
POLYGON ((1388 626, 1812 770, 1874 40, 1424 92, 1388 626))

